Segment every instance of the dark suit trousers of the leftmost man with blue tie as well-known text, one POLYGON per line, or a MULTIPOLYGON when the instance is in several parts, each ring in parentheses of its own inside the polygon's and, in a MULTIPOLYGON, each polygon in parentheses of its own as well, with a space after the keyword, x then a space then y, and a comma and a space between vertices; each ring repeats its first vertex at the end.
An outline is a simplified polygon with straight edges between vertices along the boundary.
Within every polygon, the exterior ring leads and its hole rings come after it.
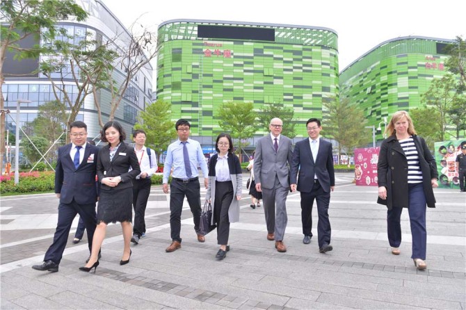
POLYGON ((88 246, 90 252, 93 247, 95 226, 97 225, 95 220, 95 203, 77 204, 73 199, 70 204, 61 203, 58 205, 58 223, 54 234, 54 242, 45 253, 44 261, 51 260, 54 261, 54 263, 60 263, 63 251, 65 251, 68 234, 70 234, 72 222, 78 213, 83 219, 88 231, 88 246))

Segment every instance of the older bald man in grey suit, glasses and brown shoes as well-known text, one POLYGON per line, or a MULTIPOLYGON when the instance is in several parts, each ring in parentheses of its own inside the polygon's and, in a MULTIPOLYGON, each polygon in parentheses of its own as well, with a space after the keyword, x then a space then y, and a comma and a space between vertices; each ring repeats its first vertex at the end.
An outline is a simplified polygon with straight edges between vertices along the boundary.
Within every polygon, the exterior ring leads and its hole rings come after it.
POLYGON ((291 139, 280 134, 282 128, 282 120, 273 118, 268 126, 271 133, 257 141, 254 175, 256 190, 262 192, 267 240, 275 240, 278 252, 287 252, 283 236, 288 222, 286 201, 293 152, 291 139))

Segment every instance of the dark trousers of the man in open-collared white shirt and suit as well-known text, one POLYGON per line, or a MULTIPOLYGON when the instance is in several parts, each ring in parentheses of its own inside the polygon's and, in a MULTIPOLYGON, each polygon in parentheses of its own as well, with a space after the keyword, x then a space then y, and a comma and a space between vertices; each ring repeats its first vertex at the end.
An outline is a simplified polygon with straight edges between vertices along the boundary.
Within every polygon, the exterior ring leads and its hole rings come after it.
POLYGON ((319 239, 319 248, 323 245, 330 244, 332 236, 332 228, 328 219, 328 205, 330 204, 330 193, 323 191, 319 181, 316 181, 312 186, 310 193, 301 192, 301 221, 303 222, 303 234, 312 236, 312 205, 314 199, 317 203, 317 214, 319 221, 317 222, 317 234, 319 239))

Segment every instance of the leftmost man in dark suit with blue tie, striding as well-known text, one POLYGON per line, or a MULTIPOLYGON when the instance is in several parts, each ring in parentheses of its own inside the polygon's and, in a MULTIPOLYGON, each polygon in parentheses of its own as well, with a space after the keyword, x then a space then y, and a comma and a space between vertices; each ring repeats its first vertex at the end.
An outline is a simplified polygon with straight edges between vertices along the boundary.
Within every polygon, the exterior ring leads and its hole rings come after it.
POLYGON ((95 202, 97 188, 95 174, 99 149, 87 143, 87 126, 83 122, 70 124, 71 143, 58 149, 55 170, 55 193, 60 199, 58 223, 54 242, 45 253, 44 262, 34 265, 35 270, 58 271, 66 247, 68 234, 77 213, 88 231, 89 251, 92 248, 96 225, 95 202))

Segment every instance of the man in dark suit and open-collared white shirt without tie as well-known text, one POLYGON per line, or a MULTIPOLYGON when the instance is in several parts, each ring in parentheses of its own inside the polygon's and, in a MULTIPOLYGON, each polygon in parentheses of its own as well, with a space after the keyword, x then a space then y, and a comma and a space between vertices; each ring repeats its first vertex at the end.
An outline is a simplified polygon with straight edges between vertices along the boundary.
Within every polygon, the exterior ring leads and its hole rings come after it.
POLYGON ((291 164, 291 190, 300 191, 301 221, 303 222, 303 243, 309 244, 312 238, 312 204, 317 202, 319 222, 319 252, 333 250, 330 245, 330 221, 328 220, 328 205, 330 190, 335 189, 335 170, 333 169, 332 143, 319 138, 322 130, 321 121, 311 118, 306 123, 309 138, 296 143, 291 164), (296 176, 298 175, 296 185, 296 176))

